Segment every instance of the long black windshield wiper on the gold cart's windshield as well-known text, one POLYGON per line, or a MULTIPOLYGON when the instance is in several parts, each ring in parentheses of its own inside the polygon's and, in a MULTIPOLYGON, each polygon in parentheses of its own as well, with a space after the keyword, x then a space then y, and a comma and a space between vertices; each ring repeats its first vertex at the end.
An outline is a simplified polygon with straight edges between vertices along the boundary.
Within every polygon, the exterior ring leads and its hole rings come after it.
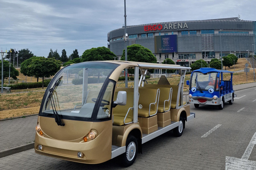
POLYGON ((59 125, 59 126, 65 126, 65 123, 63 123, 61 121, 61 118, 60 118, 60 115, 58 114, 57 112, 57 109, 55 107, 55 101, 53 99, 53 91, 56 89, 57 86, 59 86, 60 84, 60 81, 62 79, 63 76, 61 76, 53 85, 53 87, 49 90, 50 91, 50 94, 49 94, 49 97, 47 99, 47 103, 50 99, 51 101, 51 105, 52 105, 52 111, 53 111, 53 114, 54 114, 54 118, 55 118, 55 122, 59 125))

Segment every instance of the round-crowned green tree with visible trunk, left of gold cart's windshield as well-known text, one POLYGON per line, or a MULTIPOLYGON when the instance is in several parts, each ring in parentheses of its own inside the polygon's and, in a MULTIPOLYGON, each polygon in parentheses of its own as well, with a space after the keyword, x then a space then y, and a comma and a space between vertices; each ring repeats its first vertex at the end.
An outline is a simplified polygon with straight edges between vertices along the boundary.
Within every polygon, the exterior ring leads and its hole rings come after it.
POLYGON ((44 77, 50 77, 57 73, 60 70, 61 62, 55 60, 55 58, 33 57, 26 66, 27 75, 43 78, 42 88, 44 88, 44 77))

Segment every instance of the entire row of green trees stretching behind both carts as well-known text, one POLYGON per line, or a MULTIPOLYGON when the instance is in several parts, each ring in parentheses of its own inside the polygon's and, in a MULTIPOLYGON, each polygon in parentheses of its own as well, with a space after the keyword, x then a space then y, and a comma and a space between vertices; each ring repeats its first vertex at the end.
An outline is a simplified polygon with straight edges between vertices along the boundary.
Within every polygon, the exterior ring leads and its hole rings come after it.
MULTIPOLYGON (((10 54, 12 55, 10 51, 10 54)), ((77 49, 73 51, 73 54, 67 57, 66 50, 62 50, 62 55, 60 56, 55 50, 50 50, 48 58, 45 57, 36 57, 33 53, 31 53, 28 49, 22 49, 19 51, 19 59, 23 61, 21 63, 21 70, 20 72, 24 75, 28 75, 29 77, 36 77, 43 78, 44 77, 51 77, 56 72, 59 71, 62 62, 66 62, 63 66, 73 63, 80 63, 85 61, 105 61, 105 60, 115 60, 116 55, 110 51, 109 48, 106 47, 98 47, 98 48, 91 48, 85 50, 83 55, 79 57, 77 49), (71 60, 72 59, 72 60, 71 60)), ((230 54, 223 58, 223 66, 230 67, 234 63, 237 62, 238 58, 230 54)), ((123 55, 121 60, 125 60, 125 51, 123 50, 123 55)), ((147 63, 156 63, 156 57, 153 53, 148 49, 141 45, 134 44, 127 47, 127 60, 128 61, 135 61, 135 62, 147 62, 147 63)), ((1 63, 1 62, 0 62, 1 63)), ((163 64, 175 64, 171 59, 167 58, 163 61, 163 64)), ((207 63, 203 60, 197 60, 195 63, 191 64, 191 69, 196 70, 201 67, 208 67, 207 63)), ((215 69, 221 69, 221 61, 217 58, 213 58, 210 62, 210 67, 215 69)), ((0 65, 1 68, 1 65, 0 65)), ((10 66, 11 70, 11 77, 16 80, 19 72, 14 69, 13 65, 10 66)), ((1 70, 0 70, 1 72, 1 70)), ((172 71, 167 71, 167 73, 172 73, 172 71)), ((9 62, 4 61, 4 77, 9 77, 9 62)), ((43 83, 44 84, 44 83, 43 83)))

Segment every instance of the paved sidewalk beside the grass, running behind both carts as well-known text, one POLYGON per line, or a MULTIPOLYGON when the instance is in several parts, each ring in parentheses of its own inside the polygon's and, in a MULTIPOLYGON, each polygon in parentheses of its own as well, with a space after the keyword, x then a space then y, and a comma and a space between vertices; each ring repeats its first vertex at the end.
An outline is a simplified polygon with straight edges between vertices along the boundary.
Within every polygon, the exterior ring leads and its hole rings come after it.
MULTIPOLYGON (((256 87, 256 82, 239 84, 234 90, 256 87)), ((37 115, 0 120, 0 158, 34 148, 37 115)))

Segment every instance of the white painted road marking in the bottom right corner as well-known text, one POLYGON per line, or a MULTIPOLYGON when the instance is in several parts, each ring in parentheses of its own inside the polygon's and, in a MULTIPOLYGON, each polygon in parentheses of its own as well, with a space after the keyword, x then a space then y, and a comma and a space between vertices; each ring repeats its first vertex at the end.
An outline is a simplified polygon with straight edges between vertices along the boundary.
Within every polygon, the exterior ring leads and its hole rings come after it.
POLYGON ((239 158, 233 158, 226 156, 226 167, 225 169, 255 169, 256 168, 256 162, 252 160, 248 160, 252 149, 256 145, 256 133, 254 133, 249 145, 247 146, 244 155, 241 159, 239 158), (239 167, 238 167, 239 166, 239 167))

